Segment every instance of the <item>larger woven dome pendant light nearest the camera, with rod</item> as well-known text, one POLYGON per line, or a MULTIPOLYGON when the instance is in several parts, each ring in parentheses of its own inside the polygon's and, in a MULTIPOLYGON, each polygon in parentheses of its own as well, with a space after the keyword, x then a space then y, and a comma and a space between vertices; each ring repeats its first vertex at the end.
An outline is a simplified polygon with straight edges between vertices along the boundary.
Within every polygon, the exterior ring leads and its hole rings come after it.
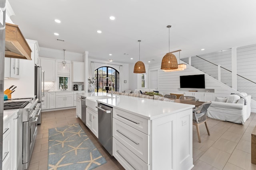
POLYGON ((175 55, 170 53, 170 27, 172 27, 172 25, 167 25, 166 27, 169 29, 169 53, 166 53, 166 55, 163 57, 161 69, 173 70, 178 68, 178 63, 175 55))

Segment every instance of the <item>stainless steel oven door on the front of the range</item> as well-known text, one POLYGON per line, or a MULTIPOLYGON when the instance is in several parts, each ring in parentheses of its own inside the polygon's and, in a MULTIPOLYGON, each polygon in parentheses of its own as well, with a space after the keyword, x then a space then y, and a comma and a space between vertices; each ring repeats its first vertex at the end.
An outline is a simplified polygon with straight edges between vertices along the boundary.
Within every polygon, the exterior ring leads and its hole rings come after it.
POLYGON ((29 166, 29 161, 34 149, 37 135, 38 117, 30 118, 30 121, 23 122, 23 170, 29 166))

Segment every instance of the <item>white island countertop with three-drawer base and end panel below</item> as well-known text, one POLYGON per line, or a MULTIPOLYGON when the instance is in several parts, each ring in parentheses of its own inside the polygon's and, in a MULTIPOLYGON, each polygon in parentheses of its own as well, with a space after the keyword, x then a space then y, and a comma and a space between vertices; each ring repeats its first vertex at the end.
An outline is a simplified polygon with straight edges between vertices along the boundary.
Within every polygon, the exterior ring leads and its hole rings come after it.
POLYGON ((113 108, 113 156, 125 169, 192 169, 193 105, 122 95, 97 101, 113 108))

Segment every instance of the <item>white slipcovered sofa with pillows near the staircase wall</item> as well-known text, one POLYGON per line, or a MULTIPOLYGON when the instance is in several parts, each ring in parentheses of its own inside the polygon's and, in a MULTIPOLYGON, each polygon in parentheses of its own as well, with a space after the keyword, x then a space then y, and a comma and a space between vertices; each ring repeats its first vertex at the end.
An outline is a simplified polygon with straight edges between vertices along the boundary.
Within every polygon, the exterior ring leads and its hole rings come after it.
POLYGON ((251 115, 251 96, 246 93, 231 94, 228 98, 216 97, 208 108, 207 117, 242 123, 251 115))

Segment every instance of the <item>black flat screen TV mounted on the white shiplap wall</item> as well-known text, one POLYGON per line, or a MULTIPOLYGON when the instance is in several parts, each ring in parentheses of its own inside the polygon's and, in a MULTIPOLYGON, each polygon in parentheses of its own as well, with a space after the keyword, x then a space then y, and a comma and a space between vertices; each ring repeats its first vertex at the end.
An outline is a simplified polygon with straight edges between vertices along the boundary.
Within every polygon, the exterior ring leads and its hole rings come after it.
POLYGON ((180 88, 205 88, 204 74, 180 76, 180 88))

